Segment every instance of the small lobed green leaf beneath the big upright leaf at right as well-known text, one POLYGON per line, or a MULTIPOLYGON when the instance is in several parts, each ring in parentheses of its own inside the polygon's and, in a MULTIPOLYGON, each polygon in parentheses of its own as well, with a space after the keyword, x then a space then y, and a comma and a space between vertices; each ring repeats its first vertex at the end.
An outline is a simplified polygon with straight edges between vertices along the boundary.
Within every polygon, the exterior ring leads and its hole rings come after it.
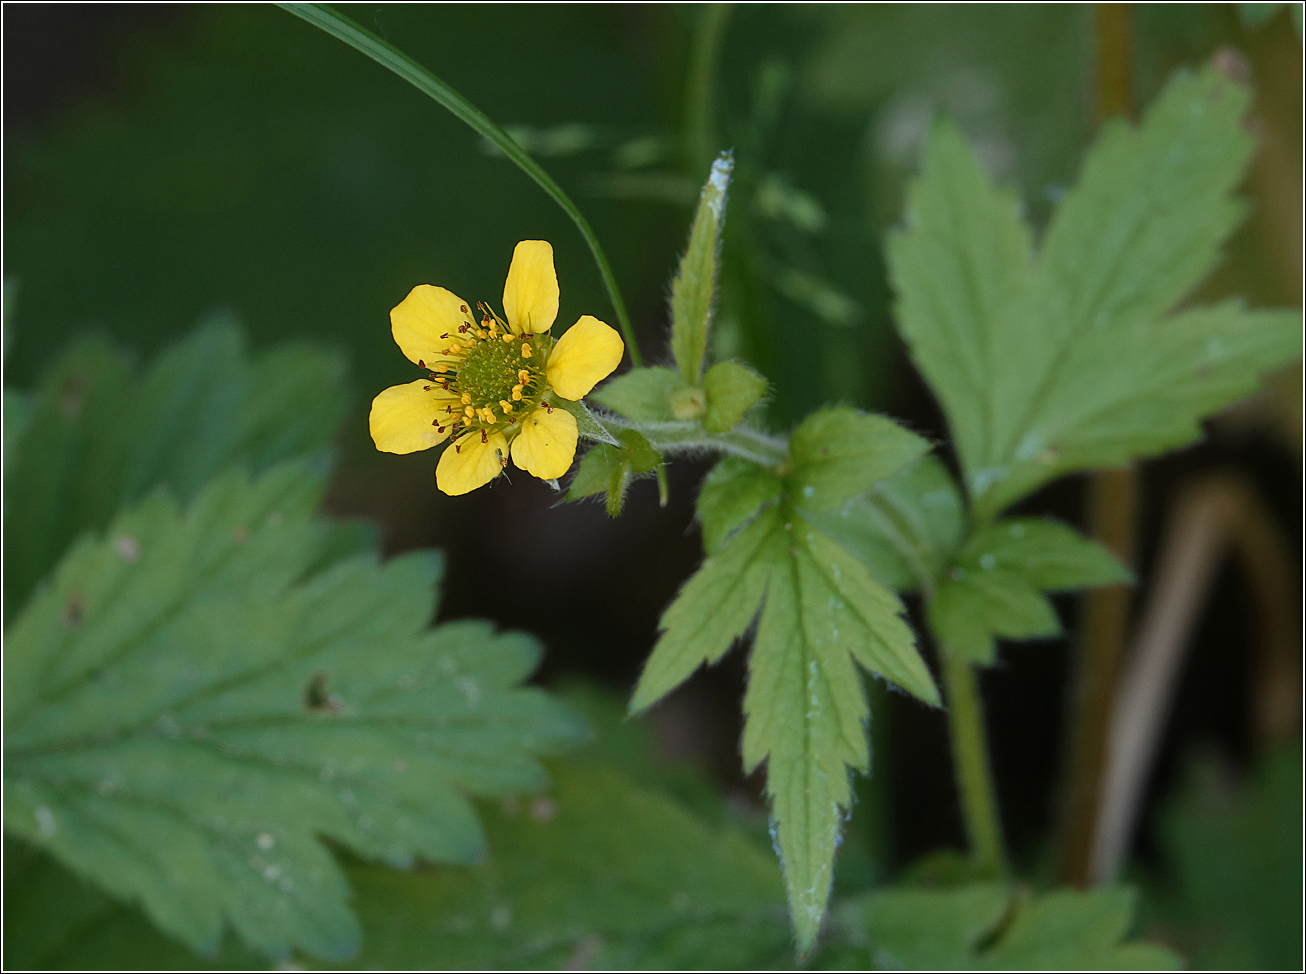
POLYGON ((952 652, 991 666, 996 637, 1060 635, 1042 591, 1132 580, 1110 551, 1066 525, 1032 517, 998 521, 981 527, 939 577, 930 628, 952 652))

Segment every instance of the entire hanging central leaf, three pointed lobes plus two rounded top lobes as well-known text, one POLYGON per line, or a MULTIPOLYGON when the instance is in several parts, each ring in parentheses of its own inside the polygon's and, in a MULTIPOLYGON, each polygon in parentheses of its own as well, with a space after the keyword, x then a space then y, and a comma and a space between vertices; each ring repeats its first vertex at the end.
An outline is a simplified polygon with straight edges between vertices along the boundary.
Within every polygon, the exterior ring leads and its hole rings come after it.
POLYGON ((921 437, 887 419, 832 409, 794 432, 784 474, 738 457, 721 461, 699 496, 708 558, 662 614, 662 635, 631 700, 632 712, 652 706, 725 655, 760 612, 743 759, 748 772, 767 762, 801 953, 815 943, 829 900, 852 803, 849 774, 870 770, 858 666, 939 702, 897 597, 806 512, 865 494, 925 449, 921 437))

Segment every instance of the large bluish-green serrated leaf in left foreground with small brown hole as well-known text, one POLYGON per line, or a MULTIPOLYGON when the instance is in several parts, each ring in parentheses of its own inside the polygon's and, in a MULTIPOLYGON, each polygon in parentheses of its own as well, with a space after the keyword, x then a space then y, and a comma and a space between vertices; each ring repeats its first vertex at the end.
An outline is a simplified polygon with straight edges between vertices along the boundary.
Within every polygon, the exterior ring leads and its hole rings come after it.
POLYGON ((428 631, 439 560, 321 564, 323 477, 234 471, 84 537, 5 638, 5 828, 196 949, 349 956, 319 836, 471 862, 468 794, 537 787, 577 721, 518 688, 538 645, 428 631))

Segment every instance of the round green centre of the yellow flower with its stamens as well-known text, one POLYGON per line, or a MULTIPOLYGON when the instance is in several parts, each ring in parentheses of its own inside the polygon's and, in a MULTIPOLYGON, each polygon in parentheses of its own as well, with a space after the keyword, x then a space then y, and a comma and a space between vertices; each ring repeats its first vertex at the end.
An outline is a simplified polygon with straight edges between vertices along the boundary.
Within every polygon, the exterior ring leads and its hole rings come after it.
POLYGON ((453 390, 465 403, 470 398, 475 413, 471 424, 509 424, 538 409, 549 345, 549 336, 491 334, 468 351, 453 390))

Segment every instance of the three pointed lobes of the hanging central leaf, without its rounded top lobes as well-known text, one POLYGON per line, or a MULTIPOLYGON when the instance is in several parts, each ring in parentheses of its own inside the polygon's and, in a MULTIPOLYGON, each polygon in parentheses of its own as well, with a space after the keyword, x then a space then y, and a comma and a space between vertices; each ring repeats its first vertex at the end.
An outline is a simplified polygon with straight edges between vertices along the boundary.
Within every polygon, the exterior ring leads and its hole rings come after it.
POLYGON ((807 953, 829 898, 852 802, 849 773, 868 770, 858 665, 926 702, 938 705, 939 696, 897 598, 782 504, 764 508, 727 538, 662 615, 662 637, 632 712, 720 659, 748 628, 759 602, 744 697, 744 769, 767 762, 790 914, 799 953, 807 953))

